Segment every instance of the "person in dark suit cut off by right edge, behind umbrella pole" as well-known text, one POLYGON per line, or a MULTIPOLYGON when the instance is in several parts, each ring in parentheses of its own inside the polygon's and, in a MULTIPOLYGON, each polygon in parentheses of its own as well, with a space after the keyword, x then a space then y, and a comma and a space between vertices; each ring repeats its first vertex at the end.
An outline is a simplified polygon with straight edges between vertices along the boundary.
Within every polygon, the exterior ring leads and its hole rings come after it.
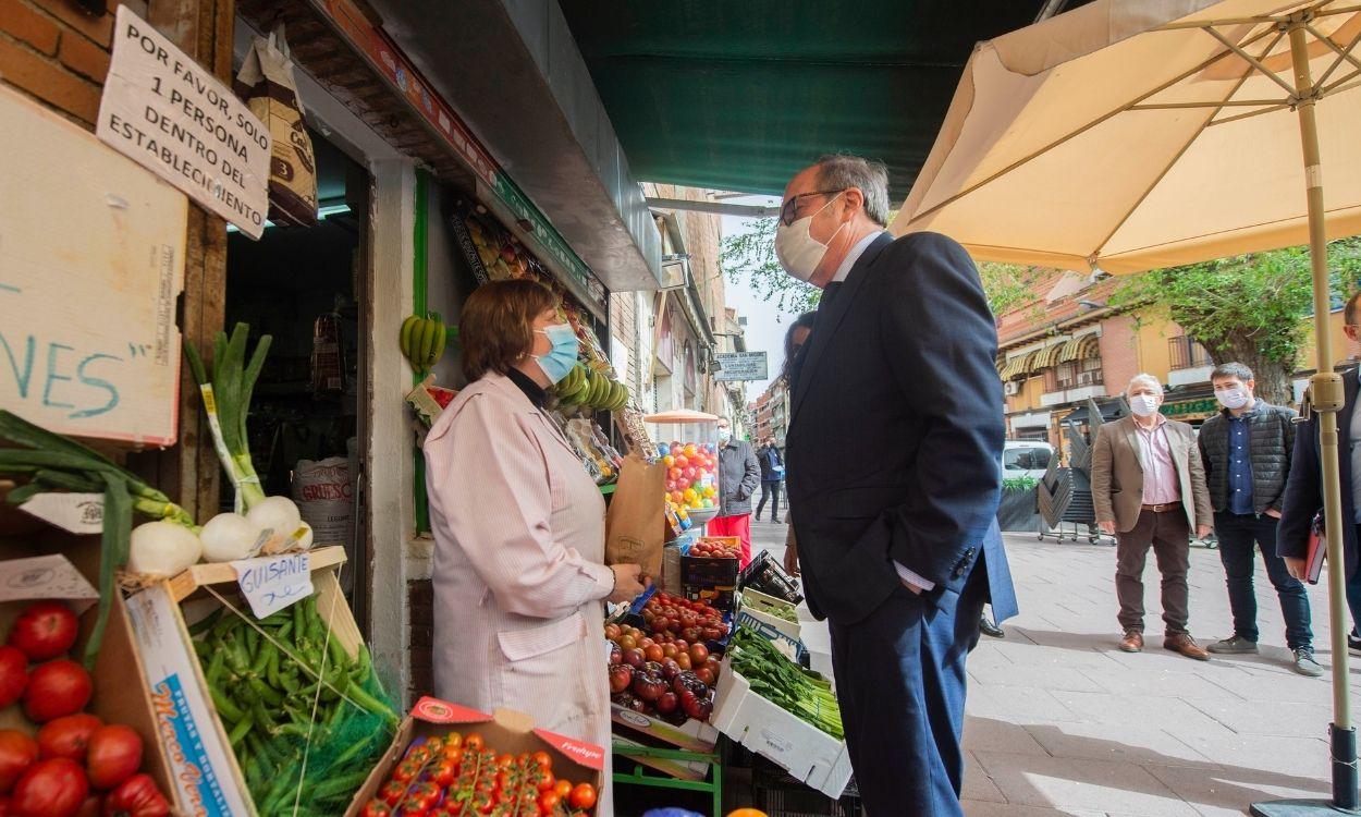
MULTIPOLYGON (((1353 343, 1361 342, 1361 293, 1347 300, 1342 310, 1346 321, 1342 332, 1353 343)), ((1328 532, 1342 530, 1343 569, 1347 577, 1347 607, 1351 609, 1351 632, 1347 635, 1350 652, 1361 655, 1361 637, 1357 622, 1361 622, 1361 571, 1357 571, 1357 528, 1361 524, 1361 411, 1357 411, 1357 395, 1361 383, 1358 369, 1342 374, 1345 403, 1338 413, 1338 456, 1342 482, 1342 524, 1330 527, 1328 532)), ((1277 528, 1277 553, 1285 558, 1286 569, 1301 581, 1305 577, 1304 560, 1309 554, 1309 527, 1315 516, 1323 513, 1323 467, 1319 456, 1317 414, 1296 429, 1294 452, 1290 458, 1290 478, 1285 486, 1285 502, 1281 507, 1281 524, 1277 528)))

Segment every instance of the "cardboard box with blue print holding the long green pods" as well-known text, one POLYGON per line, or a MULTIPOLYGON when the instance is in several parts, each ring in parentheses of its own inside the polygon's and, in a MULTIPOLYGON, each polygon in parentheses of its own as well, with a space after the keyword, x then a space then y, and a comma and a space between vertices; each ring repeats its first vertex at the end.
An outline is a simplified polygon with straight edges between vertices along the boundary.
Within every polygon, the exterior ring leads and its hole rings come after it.
MULTIPOLYGON (((344 558, 343 547, 321 547, 310 553, 310 568, 317 614, 352 658, 362 639, 335 575, 344 558)), ((235 583, 230 564, 195 565, 128 599, 132 632, 146 666, 143 688, 157 703, 157 731, 178 797, 191 805, 186 814, 256 814, 189 636, 191 624, 222 606, 204 590, 208 586, 249 615, 235 583)))

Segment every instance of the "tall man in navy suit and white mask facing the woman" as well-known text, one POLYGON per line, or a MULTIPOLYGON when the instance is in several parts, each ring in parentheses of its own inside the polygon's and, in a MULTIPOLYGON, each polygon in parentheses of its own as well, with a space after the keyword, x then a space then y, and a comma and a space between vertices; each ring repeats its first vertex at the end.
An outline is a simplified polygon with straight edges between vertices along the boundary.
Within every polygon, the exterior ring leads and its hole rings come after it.
POLYGON ((999 621, 1015 613, 996 328, 964 249, 894 240, 887 211, 887 172, 857 157, 785 188, 776 252, 823 290, 792 379, 787 487, 866 810, 954 817, 965 656, 989 596, 999 621))

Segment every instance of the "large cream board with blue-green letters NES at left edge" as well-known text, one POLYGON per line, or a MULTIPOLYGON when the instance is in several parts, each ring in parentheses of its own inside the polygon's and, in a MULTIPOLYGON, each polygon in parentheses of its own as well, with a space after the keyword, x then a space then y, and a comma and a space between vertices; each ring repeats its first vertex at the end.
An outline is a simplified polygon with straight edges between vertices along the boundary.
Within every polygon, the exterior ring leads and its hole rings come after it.
POLYGON ((184 193, 4 87, 0 178, 0 408, 173 444, 184 193))

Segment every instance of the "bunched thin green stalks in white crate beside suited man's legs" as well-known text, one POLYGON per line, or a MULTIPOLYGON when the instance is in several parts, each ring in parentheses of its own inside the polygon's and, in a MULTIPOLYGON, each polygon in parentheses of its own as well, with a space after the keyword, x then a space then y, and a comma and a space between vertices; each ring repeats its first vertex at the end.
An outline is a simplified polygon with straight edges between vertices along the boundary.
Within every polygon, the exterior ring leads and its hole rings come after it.
POLYGON ((751 684, 751 692, 838 741, 845 738, 837 696, 822 675, 804 670, 770 641, 744 628, 734 633, 727 656, 732 671, 751 684))

